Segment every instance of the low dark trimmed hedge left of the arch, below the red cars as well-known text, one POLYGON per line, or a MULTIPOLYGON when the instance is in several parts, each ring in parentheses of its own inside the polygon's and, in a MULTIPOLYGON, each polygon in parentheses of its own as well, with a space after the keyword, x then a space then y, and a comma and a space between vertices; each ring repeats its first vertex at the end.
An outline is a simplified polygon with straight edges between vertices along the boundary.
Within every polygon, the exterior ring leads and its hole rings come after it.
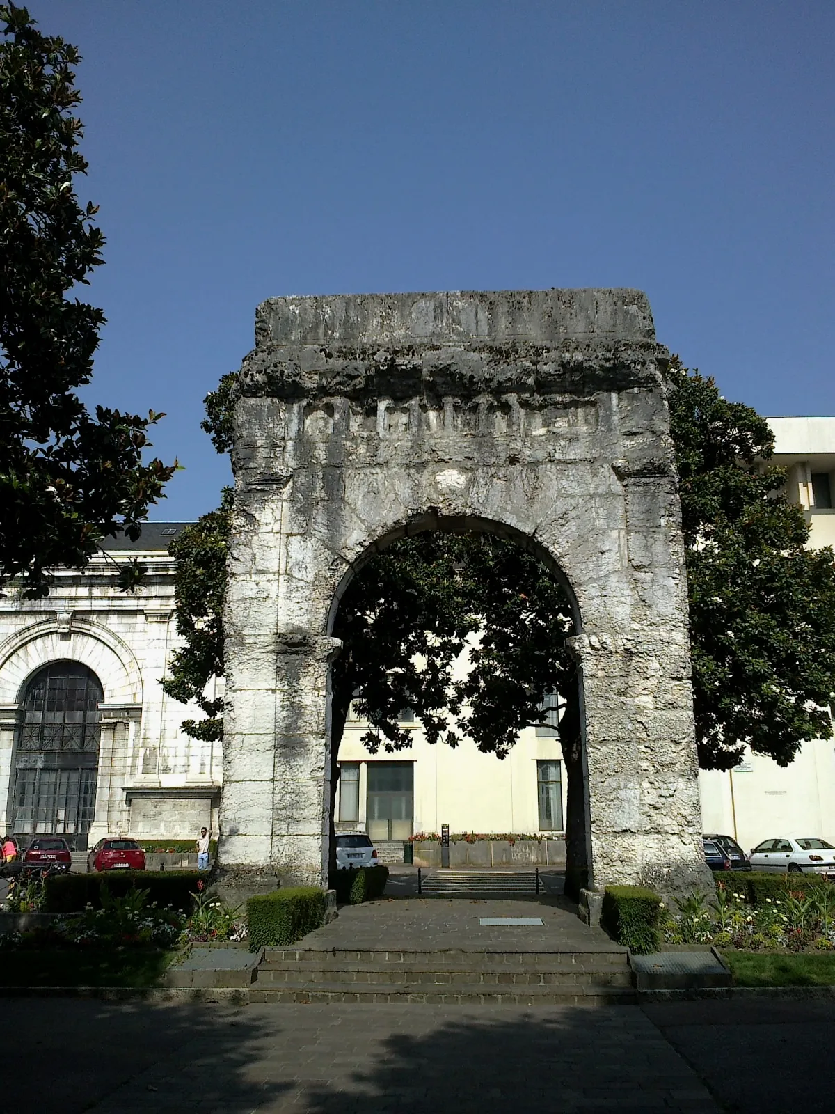
POLYGON ((108 870, 100 874, 53 874, 47 879, 47 912, 80 912, 86 906, 101 908, 101 887, 112 897, 129 889, 149 890, 148 903, 171 905, 181 912, 191 909, 198 882, 206 885, 205 871, 197 870, 108 870))

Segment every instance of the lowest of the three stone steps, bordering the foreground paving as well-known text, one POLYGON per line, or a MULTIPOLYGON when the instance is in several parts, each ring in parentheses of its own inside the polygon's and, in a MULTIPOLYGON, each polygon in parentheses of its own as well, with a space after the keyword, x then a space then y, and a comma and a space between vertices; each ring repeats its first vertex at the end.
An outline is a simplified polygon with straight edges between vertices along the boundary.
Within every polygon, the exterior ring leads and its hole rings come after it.
POLYGON ((636 991, 610 986, 495 986, 480 984, 455 986, 346 986, 344 983, 311 983, 301 986, 262 986, 249 991, 249 1001, 276 1003, 425 1003, 482 1004, 514 1006, 564 1006, 615 1004, 633 1005, 636 991))

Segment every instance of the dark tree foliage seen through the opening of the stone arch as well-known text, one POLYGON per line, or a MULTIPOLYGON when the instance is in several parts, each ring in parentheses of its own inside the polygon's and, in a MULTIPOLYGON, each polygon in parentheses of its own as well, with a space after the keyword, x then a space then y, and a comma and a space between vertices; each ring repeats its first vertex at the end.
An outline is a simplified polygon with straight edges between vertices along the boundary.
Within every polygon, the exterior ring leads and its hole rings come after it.
POLYGON ((430 743, 456 746, 469 736, 504 758, 523 727, 542 722, 544 697, 570 690, 571 631, 564 592, 521 544, 492 535, 403 538, 360 570, 340 603, 334 723, 355 694, 372 753, 411 745, 397 723, 411 707, 430 743), (462 653, 470 668, 458 676, 462 653))

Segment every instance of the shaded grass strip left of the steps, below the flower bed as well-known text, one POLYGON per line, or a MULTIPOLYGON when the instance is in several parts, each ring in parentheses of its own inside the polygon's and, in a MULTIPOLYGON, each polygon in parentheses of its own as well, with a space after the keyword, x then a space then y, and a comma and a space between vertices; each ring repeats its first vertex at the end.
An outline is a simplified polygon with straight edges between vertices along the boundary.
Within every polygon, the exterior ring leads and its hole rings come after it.
POLYGON ((176 950, 3 951, 0 986, 159 986, 176 950))

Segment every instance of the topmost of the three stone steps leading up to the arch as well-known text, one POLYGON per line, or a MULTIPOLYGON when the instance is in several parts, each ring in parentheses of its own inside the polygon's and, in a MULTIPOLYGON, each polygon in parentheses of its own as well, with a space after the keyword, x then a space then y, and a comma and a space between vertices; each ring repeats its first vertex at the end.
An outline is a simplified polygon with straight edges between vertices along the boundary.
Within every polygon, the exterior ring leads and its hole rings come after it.
POLYGON ((284 967, 288 964, 331 964, 350 969, 352 965, 375 967, 403 966, 415 970, 444 970, 456 968, 482 969, 629 969, 626 948, 612 947, 600 951, 508 951, 478 949, 371 949, 344 948, 266 948, 261 968, 284 967))

